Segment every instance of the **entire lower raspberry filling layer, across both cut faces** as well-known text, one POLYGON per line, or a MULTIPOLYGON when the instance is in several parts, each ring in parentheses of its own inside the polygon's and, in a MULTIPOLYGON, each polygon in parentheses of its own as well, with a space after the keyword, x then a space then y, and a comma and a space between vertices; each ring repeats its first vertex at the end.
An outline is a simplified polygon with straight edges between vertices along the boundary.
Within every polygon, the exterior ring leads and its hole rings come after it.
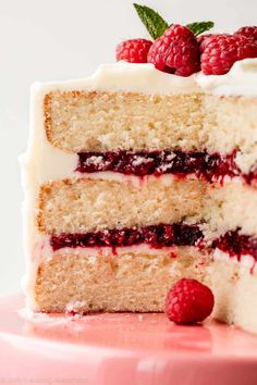
MULTIPOLYGON (((139 244, 150 245, 152 248, 171 246, 203 247, 204 235, 197 225, 175 223, 172 225, 159 224, 140 228, 106 229, 83 234, 53 235, 50 245, 53 251, 64 247, 117 247, 139 244)), ((229 231, 212 243, 212 248, 229 253, 231 257, 253 256, 257 260, 257 238, 240 234, 240 228, 229 231)))

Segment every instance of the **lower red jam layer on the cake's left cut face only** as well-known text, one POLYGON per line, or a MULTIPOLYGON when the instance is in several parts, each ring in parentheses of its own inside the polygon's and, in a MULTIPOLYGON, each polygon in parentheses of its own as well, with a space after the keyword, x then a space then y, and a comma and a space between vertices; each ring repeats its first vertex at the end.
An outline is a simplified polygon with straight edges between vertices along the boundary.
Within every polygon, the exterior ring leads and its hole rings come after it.
POLYGON ((169 246, 196 246, 203 239, 197 225, 159 224, 142 228, 106 229, 84 234, 61 234, 52 236, 50 244, 53 251, 64 247, 122 247, 139 244, 152 248, 169 246))

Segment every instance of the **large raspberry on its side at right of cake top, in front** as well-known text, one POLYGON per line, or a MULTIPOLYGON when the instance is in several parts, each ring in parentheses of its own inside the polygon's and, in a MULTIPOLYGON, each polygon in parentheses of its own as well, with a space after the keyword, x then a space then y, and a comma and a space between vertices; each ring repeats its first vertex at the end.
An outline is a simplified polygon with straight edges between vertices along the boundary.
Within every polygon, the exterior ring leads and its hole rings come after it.
POLYGON ((238 35, 213 35, 204 41, 201 71, 206 75, 223 75, 236 61, 246 58, 257 58, 257 45, 248 38, 238 35))

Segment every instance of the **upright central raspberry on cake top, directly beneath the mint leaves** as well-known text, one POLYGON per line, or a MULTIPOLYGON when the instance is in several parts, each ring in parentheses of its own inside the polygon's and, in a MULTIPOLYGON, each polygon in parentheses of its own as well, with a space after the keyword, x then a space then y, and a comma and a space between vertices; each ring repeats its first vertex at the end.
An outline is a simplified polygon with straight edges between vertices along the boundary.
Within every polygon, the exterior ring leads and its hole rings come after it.
POLYGON ((194 34, 174 24, 151 46, 147 61, 156 69, 180 76, 199 71, 199 49, 194 34))

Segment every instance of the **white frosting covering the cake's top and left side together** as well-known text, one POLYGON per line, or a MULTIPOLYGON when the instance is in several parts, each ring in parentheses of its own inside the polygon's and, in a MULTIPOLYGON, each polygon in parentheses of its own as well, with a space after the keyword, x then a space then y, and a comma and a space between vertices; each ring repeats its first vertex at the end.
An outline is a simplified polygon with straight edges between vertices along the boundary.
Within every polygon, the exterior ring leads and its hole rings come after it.
MULTIPOLYGON (((23 185, 26 191, 24 202, 24 247, 27 260, 27 275, 24 280, 28 305, 36 309, 34 288, 37 266, 42 256, 51 254, 48 239, 37 232, 36 207, 39 186, 51 179, 65 177, 88 177, 75 172, 78 157, 63 152, 50 145, 44 127, 44 97, 52 90, 112 90, 138 91, 145 94, 189 94, 206 91, 217 95, 257 95, 257 59, 243 60, 234 64, 232 70, 222 76, 205 76, 194 74, 180 77, 157 71, 152 64, 128 64, 119 62, 100 66, 89 78, 62 83, 36 83, 32 87, 30 133, 27 152, 21 157, 23 185), (37 257, 35 257, 37 254, 37 257), (34 258, 32 257, 34 256, 34 258)), ((118 173, 89 174, 95 178, 111 178, 131 182, 140 186, 136 176, 124 176, 118 173)), ((163 183, 171 181, 171 175, 162 176, 163 183)))

